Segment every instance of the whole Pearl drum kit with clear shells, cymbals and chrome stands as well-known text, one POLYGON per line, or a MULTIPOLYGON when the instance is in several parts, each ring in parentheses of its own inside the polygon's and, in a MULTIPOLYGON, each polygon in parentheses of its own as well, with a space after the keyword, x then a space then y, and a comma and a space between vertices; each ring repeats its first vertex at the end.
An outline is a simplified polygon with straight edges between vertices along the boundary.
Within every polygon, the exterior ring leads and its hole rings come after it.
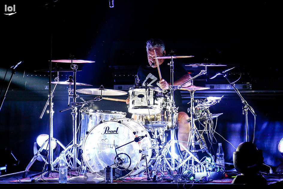
MULTIPOLYGON (((195 116, 195 105, 194 92, 196 90, 206 90, 206 87, 197 87, 192 85, 192 81, 200 75, 207 73, 207 66, 209 64, 202 64, 205 66, 198 75, 186 81, 191 82, 188 87, 183 87, 186 83, 178 86, 173 85, 173 69, 174 69, 174 58, 187 58, 192 56, 159 56, 155 57, 156 62, 158 59, 171 59, 170 63, 170 76, 171 86, 168 91, 164 93, 159 87, 148 87, 148 86, 135 86, 131 87, 128 92, 120 90, 105 89, 103 86, 100 88, 84 88, 76 89, 76 86, 92 86, 89 84, 76 82, 76 70, 78 66, 74 63, 92 63, 94 61, 77 60, 77 59, 63 59, 63 60, 52 60, 52 62, 63 62, 70 63, 73 71, 73 76, 69 77, 67 81, 59 81, 59 72, 62 69, 54 69, 53 72, 57 72, 58 76, 55 78, 54 85, 51 94, 53 94, 56 85, 69 85, 68 93, 68 108, 61 110, 71 110, 73 117, 73 141, 68 146, 60 144, 64 150, 64 153, 69 161, 70 169, 75 170, 77 176, 82 172, 97 172, 97 175, 104 177, 104 170, 107 166, 113 168, 113 178, 123 178, 132 175, 143 174, 147 172, 147 180, 150 180, 149 169, 151 168, 151 174, 153 181, 156 180, 156 176, 159 172, 166 170, 169 174, 173 174, 174 171, 180 169, 180 167, 194 166, 194 162, 200 163, 196 156, 195 150, 195 135, 197 139, 200 139, 200 146, 203 147, 202 151, 206 151, 207 147, 203 136, 198 132, 195 127, 196 120, 207 120, 207 115, 196 118, 195 116), (73 87, 73 89, 71 89, 73 87), (191 125, 189 133, 188 146, 183 146, 179 141, 176 140, 175 130, 177 129, 177 107, 175 107, 173 93, 175 90, 187 90, 191 94, 191 104, 188 112, 190 112, 190 118, 187 120, 191 125), (83 102, 77 102, 76 99, 79 95, 76 93, 87 94, 90 96, 96 96, 94 99, 83 102), (124 99, 114 99, 105 96, 121 96, 127 95, 130 103, 128 104, 128 112, 136 117, 126 118, 125 112, 119 111, 103 111, 91 109, 92 102, 105 100, 121 101, 126 102, 124 99), (71 102, 73 99, 73 102, 71 102), (89 107, 84 107, 86 104, 91 104, 89 107), (81 122, 79 124, 79 132, 77 127, 77 107, 81 107, 79 112, 81 113, 81 122), (166 131, 170 132, 170 140, 167 141, 166 131), (79 139, 77 134, 79 133, 79 139), (175 145, 181 146, 185 149, 186 154, 176 155, 175 145), (82 161, 78 160, 78 150, 82 152, 82 161)), ((159 64, 157 63, 159 71, 159 77, 162 78, 159 64)), ((192 65, 193 66, 193 65, 192 65)), ((225 65, 223 65, 225 66, 225 65)), ((50 71, 50 70, 49 70, 50 71)), ((64 70, 62 72, 67 72, 64 70)), ((49 80, 50 81, 50 80, 49 80)), ((52 95, 48 99, 43 112, 40 116, 42 118, 46 107, 50 105, 53 110, 52 95)), ((221 99, 221 98, 220 98, 221 99)), ((220 99, 213 99, 212 101, 206 100, 202 103, 204 108, 209 103, 217 103, 220 99)), ((201 103, 200 103, 201 104, 201 103)), ((50 112, 53 119, 53 111, 50 112)), ((219 116, 217 114, 214 117, 219 116)), ((53 138, 53 130, 51 123, 51 140, 53 138)), ((57 140, 58 141, 58 140, 57 140)), ((177 147, 178 148, 178 147, 177 147)), ((26 172, 30 168, 31 164, 36 160, 37 155, 31 160, 26 168, 26 172)), ((49 156, 53 156, 52 150, 49 148, 49 156)), ((49 164, 55 167, 59 160, 56 158, 49 159, 49 164)))

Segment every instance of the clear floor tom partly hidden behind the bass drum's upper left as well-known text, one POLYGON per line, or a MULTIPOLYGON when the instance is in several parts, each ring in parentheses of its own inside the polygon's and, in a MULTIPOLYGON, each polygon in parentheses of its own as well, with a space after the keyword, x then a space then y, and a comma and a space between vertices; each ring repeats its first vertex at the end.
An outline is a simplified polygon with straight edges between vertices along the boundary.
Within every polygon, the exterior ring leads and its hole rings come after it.
POLYGON ((87 135, 87 132, 101 121, 109 121, 122 117, 126 117, 125 112, 103 110, 88 110, 86 112, 83 112, 80 139, 83 140, 87 135))

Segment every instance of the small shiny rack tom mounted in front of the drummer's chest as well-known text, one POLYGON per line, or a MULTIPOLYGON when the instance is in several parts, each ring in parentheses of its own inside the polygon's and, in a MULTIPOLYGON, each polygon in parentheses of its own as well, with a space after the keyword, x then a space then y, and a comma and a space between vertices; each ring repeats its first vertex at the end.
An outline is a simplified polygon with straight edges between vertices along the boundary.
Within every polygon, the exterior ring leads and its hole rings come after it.
POLYGON ((159 87, 131 87, 128 112, 138 115, 155 115, 162 110, 162 89, 159 87))

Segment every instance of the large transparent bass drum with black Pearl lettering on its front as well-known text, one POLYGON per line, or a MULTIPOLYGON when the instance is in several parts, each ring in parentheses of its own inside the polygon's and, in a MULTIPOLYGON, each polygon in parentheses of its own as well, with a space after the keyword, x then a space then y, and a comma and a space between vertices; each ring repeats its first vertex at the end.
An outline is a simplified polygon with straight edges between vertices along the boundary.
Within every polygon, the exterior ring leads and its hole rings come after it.
POLYGON ((152 154, 150 135, 140 123, 128 118, 97 124, 85 137, 82 149, 82 157, 91 172, 104 177, 104 169, 109 165, 114 179, 145 171, 144 157, 148 163, 152 154), (135 142, 139 136, 147 137, 135 142), (123 160, 121 165, 115 165, 117 154, 123 160))

